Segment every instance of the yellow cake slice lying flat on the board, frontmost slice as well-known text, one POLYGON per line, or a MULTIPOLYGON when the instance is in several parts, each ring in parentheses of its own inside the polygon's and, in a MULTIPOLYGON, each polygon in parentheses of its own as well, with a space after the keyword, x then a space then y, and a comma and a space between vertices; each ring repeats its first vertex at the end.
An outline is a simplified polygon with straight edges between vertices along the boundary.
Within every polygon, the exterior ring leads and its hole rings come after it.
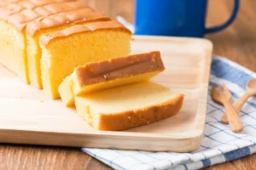
POLYGON ((92 127, 117 131, 176 115, 183 94, 154 82, 138 82, 77 96, 75 105, 92 127))

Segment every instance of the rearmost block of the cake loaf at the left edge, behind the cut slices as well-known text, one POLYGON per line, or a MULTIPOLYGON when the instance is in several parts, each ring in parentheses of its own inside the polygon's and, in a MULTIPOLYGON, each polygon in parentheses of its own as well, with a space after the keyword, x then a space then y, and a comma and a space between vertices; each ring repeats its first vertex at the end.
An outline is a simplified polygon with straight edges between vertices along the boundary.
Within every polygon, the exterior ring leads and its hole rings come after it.
POLYGON ((49 16, 50 3, 73 0, 6 0, 0 3, 0 63, 29 83, 26 57, 26 26, 49 16), (42 12, 43 11, 43 12, 42 12))

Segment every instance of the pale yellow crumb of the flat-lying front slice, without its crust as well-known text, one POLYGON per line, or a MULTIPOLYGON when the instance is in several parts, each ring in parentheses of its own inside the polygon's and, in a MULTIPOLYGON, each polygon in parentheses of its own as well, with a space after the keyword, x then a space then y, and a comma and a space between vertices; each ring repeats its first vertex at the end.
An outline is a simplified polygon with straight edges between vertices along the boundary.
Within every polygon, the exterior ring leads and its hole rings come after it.
POLYGON ((138 82, 77 96, 75 105, 79 116, 97 129, 104 114, 114 116, 125 111, 143 110, 151 105, 168 103, 179 96, 160 84, 138 82))

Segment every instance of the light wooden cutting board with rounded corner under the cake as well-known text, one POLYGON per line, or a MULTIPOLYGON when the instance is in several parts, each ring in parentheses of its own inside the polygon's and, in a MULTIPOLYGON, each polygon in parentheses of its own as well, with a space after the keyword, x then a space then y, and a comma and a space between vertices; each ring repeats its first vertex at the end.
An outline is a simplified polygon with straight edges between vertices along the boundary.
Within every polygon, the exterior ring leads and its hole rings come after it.
POLYGON ((212 43, 205 39, 134 37, 131 53, 160 50, 166 71, 153 79, 185 94, 166 120, 121 132, 96 131, 61 100, 19 81, 0 65, 0 142, 188 152, 200 147, 207 111, 212 43))

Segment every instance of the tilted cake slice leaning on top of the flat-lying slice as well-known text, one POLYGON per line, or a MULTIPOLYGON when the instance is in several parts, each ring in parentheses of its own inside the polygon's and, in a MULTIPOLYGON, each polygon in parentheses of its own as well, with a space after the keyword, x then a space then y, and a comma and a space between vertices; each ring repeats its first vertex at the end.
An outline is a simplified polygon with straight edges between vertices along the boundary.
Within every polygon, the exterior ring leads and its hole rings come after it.
POLYGON ((147 81, 164 70, 159 51, 103 60, 77 67, 61 82, 59 93, 71 106, 75 95, 147 81))

